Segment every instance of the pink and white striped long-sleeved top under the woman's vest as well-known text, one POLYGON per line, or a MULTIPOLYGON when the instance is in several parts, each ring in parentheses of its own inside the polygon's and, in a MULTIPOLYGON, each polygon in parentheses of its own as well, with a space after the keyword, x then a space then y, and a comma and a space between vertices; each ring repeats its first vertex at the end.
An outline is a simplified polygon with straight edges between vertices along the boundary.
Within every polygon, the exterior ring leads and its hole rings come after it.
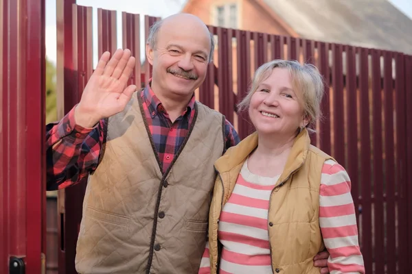
MULTIPOLYGON (((219 273, 273 273, 267 218, 271 190, 278 177, 255 175, 244 162, 220 214, 218 238, 223 248, 219 273)), ((327 160, 321 175, 319 225, 330 253, 331 274, 365 273, 350 187, 345 169, 327 160)), ((207 243, 199 274, 210 273, 209 266, 207 243)))

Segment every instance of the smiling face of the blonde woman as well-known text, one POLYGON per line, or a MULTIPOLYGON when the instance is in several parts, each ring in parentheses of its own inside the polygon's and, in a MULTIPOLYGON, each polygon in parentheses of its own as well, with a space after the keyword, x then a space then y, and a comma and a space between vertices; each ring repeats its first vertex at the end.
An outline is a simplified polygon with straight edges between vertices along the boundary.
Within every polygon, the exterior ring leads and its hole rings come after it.
POLYGON ((273 69, 251 97, 249 116, 258 134, 275 134, 288 138, 308 124, 304 108, 293 90, 287 69, 273 69))

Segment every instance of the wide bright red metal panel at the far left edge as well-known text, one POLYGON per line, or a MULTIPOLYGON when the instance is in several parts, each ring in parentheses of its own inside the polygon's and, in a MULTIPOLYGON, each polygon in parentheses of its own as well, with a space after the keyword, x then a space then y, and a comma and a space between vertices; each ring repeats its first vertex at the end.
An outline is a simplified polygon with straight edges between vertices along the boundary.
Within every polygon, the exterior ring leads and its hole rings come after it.
POLYGON ((0 273, 45 269, 44 18, 44 2, 0 0, 0 273))

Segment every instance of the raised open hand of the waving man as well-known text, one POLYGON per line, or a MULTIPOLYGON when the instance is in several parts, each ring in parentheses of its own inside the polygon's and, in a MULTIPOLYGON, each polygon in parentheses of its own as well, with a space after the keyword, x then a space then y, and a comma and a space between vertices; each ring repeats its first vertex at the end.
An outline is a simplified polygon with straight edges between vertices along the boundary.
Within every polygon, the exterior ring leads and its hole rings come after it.
POLYGON ((130 50, 117 49, 109 58, 109 52, 102 54, 76 107, 76 123, 82 127, 124 110, 136 90, 135 85, 126 86, 136 62, 130 50))

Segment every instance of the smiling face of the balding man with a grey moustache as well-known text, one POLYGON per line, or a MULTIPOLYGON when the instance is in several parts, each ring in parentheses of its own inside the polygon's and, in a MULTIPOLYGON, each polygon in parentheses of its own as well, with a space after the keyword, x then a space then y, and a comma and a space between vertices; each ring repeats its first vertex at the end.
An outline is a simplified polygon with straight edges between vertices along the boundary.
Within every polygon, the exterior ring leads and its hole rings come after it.
POLYGON ((146 46, 153 66, 152 88, 168 96, 186 98, 201 86, 207 73, 210 36, 204 25, 165 22, 157 33, 155 49, 146 46))

